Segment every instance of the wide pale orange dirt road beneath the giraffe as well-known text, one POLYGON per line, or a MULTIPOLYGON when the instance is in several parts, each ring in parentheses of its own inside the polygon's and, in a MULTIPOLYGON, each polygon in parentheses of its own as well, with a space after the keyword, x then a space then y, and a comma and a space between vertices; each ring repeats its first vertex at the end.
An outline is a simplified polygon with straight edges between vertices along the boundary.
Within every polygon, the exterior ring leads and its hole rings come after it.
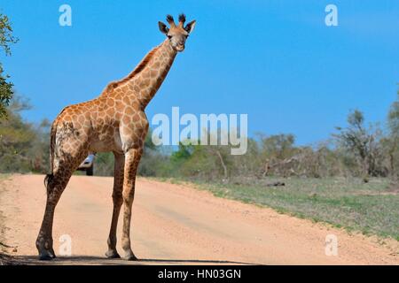
MULTIPOLYGON (((59 256, 45 264, 399 264, 397 241, 381 245, 372 238, 274 210, 145 179, 137 180, 132 220, 132 247, 141 260, 107 260, 112 186, 112 178, 71 179, 57 207, 53 230, 56 253, 59 238, 67 234, 73 256, 59 256), (325 255, 328 234, 337 236, 337 256, 325 255)), ((35 237, 44 203, 43 176, 12 175, 0 180, 3 242, 22 262, 37 263, 35 237)), ((120 236, 121 218, 118 240, 120 236)), ((119 243, 118 247, 121 252, 119 243)))

